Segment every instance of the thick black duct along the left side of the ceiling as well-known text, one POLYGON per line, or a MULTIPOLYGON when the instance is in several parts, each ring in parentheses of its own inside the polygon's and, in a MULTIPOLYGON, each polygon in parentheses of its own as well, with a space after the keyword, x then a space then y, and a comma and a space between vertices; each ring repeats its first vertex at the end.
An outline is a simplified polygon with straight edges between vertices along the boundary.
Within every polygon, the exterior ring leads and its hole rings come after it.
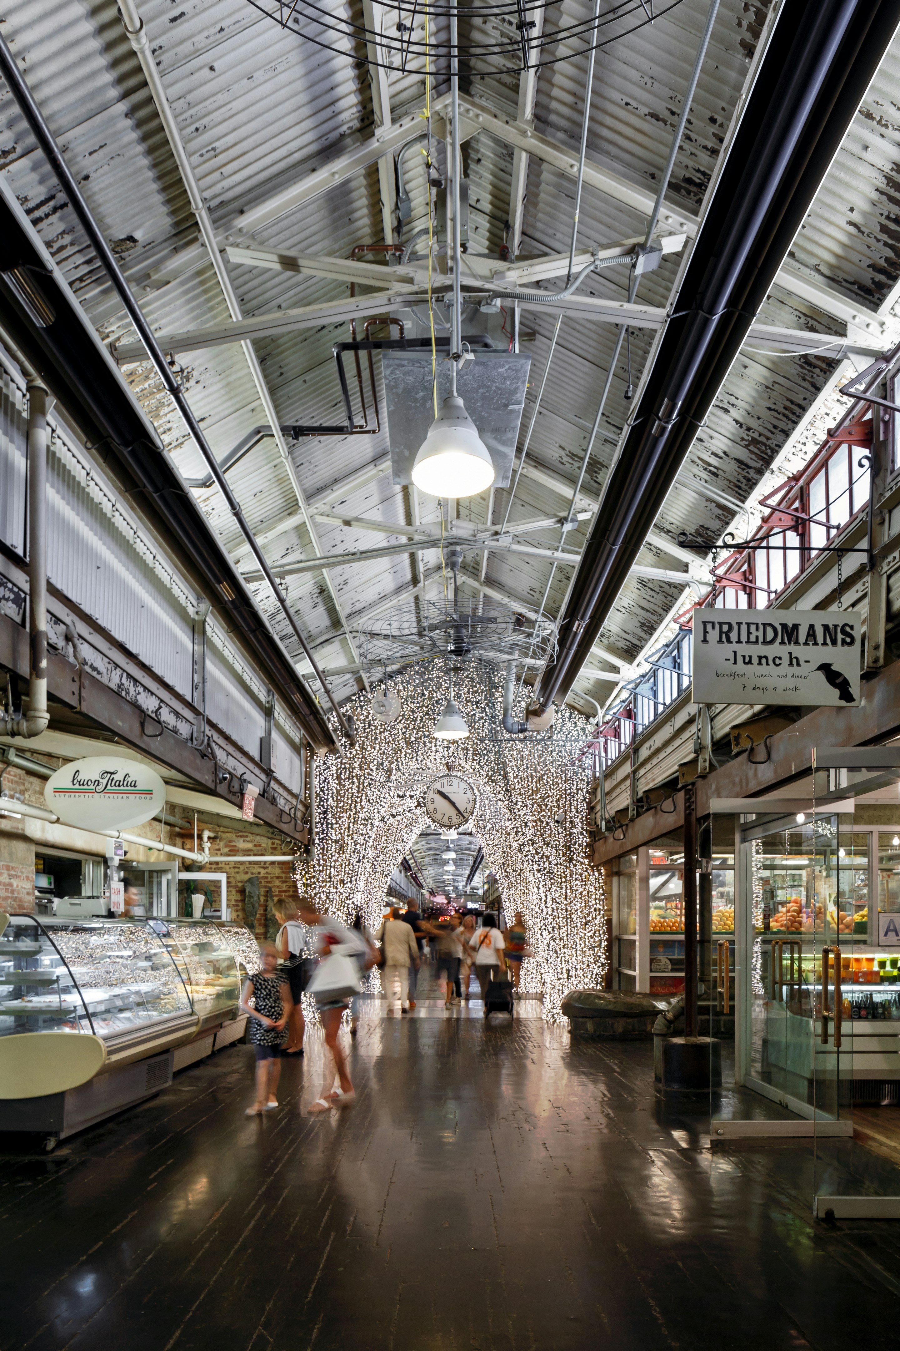
POLYGON ((318 750, 333 734, 49 255, 0 193, 0 327, 318 750))

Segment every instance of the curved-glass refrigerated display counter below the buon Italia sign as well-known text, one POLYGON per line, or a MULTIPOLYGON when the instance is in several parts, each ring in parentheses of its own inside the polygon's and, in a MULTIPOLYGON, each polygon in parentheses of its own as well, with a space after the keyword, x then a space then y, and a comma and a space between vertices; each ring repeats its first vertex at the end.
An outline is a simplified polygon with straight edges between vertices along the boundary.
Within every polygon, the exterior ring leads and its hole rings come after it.
POLYGON ((237 1040, 240 988, 256 957, 252 935, 231 923, 8 916, 0 1131, 38 1131, 55 1143, 237 1040), (93 1039, 96 1054, 84 1046, 73 1054, 73 1038, 93 1039), (96 1069, 73 1084, 76 1063, 96 1069))

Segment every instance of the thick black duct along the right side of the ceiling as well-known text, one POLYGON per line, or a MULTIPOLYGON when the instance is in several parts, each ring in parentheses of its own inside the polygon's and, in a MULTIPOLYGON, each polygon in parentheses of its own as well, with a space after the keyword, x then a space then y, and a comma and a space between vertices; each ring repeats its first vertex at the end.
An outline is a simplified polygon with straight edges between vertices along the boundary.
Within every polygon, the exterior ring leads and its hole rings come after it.
POLYGON ((900 0, 785 5, 706 209, 536 696, 571 689, 892 41, 900 0))

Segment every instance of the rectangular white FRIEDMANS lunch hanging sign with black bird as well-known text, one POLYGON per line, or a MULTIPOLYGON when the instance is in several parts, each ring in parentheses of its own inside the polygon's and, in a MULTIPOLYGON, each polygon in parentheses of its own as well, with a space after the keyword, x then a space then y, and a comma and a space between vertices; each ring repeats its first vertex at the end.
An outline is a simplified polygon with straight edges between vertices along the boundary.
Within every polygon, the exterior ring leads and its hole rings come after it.
POLYGON ((695 609, 695 704, 860 703, 851 609, 695 609))

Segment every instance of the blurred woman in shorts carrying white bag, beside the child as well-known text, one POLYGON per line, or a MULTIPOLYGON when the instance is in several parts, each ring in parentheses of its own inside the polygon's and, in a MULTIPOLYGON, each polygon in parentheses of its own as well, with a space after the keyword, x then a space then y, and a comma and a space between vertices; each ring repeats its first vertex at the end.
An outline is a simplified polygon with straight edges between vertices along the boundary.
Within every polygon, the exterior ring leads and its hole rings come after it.
POLYGON ((349 1106, 355 1101, 354 1085, 347 1073, 347 1058, 337 1042, 340 1020, 354 994, 359 994, 359 965, 355 954, 364 948, 364 940, 340 920, 320 915, 309 896, 300 898, 300 917, 310 929, 310 939, 318 952, 318 966, 306 990, 316 996, 325 1029, 325 1070, 322 1094, 309 1108, 310 1116, 331 1112, 336 1106, 349 1106), (331 1055, 329 1055, 331 1052, 331 1055), (332 1069, 333 1062, 333 1069, 332 1069), (335 1074, 340 1088, 332 1089, 335 1074))

